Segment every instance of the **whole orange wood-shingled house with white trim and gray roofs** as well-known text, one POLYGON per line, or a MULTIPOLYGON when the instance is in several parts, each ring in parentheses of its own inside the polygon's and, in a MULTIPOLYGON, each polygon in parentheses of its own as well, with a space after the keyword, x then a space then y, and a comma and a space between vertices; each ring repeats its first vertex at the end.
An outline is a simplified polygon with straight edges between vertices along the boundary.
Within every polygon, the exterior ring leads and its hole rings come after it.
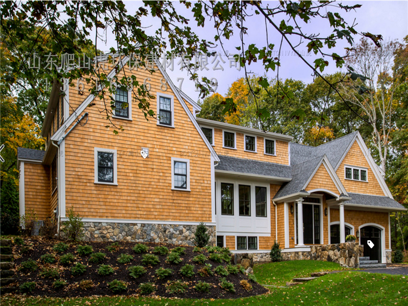
MULTIPOLYGON (((123 66, 123 67, 122 67, 123 66)), ((20 214, 83 218, 88 241, 192 245, 205 222, 210 243, 233 252, 284 253, 342 243, 356 235, 365 256, 391 260, 390 213, 396 202, 359 132, 317 147, 292 137, 200 119, 200 107, 165 69, 130 71, 151 84, 158 118, 145 119, 135 93, 118 90, 106 129, 103 101, 54 84, 42 127, 45 151, 18 148, 20 214)))

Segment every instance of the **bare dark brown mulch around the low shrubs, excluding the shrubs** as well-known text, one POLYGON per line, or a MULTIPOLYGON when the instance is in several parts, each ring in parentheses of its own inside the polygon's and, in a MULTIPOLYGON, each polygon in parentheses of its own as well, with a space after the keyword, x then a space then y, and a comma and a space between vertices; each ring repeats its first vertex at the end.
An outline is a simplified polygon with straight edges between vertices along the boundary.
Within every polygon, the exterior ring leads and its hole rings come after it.
MULTIPOLYGON (((227 292, 223 290, 220 286, 220 278, 222 276, 219 276, 214 273, 213 276, 206 276, 202 277, 197 273, 197 270, 202 268, 204 265, 198 265, 195 262, 192 261, 193 257, 197 256, 197 252, 193 252, 193 247, 189 246, 184 246, 186 248, 186 254, 182 255, 181 258, 183 259, 183 262, 174 265, 174 264, 167 264, 165 262, 167 256, 158 256, 160 259, 160 264, 152 266, 152 267, 146 267, 147 273, 144 274, 143 276, 135 279, 132 278, 129 275, 129 272, 127 271, 127 268, 129 266, 136 266, 136 265, 142 265, 141 259, 143 254, 136 254, 132 248, 136 245, 136 243, 131 243, 131 242, 119 242, 120 249, 115 252, 109 252, 107 250, 107 246, 109 246, 111 243, 105 243, 105 242, 87 242, 87 245, 91 245, 93 248, 94 252, 103 252, 106 253, 106 258, 103 262, 105 265, 111 265, 115 272, 111 275, 108 276, 101 276, 97 274, 97 268, 99 267, 99 264, 94 264, 89 262, 89 256, 80 256, 77 252, 77 246, 79 244, 70 244, 69 249, 65 251, 64 253, 72 253, 74 254, 76 258, 76 262, 82 263, 87 266, 86 272, 82 275, 79 276, 72 276, 70 268, 71 266, 75 265, 75 263, 70 264, 67 267, 64 267, 59 264, 59 258, 63 254, 56 253, 53 250, 53 246, 57 244, 58 240, 46 240, 41 237, 31 237, 31 238, 25 238, 25 243, 26 244, 31 244, 32 245, 32 250, 29 252, 21 252, 22 246, 14 246, 13 247, 13 253, 14 253, 14 262, 15 262, 15 277, 16 281, 18 284, 15 285, 21 285, 25 282, 35 282, 36 287, 35 289, 28 293, 28 295, 33 295, 33 296, 48 296, 48 297, 84 297, 84 296, 92 296, 92 295, 117 295, 113 293, 108 286, 108 283, 112 282, 114 279, 118 279, 120 281, 124 281, 127 284, 127 290, 122 293, 122 295, 139 295, 140 290, 139 285, 143 283, 154 283, 156 285, 156 292, 152 293, 152 295, 158 295, 162 297, 179 297, 179 298, 241 298, 241 297, 247 297, 247 296, 253 296, 253 295, 259 295, 259 294, 264 294, 268 292, 267 289, 262 287, 261 285, 257 283, 252 283, 249 281, 248 277, 242 273, 238 273, 236 275, 230 274, 226 276, 226 280, 228 282, 231 282, 235 286, 235 293, 227 292), (56 255, 56 263, 54 264, 43 264, 40 260, 41 256, 43 254, 47 253, 52 253, 56 255), (129 264, 119 264, 117 262, 117 257, 121 253, 128 253, 131 254, 134 259, 131 263, 129 264), (38 264, 38 269, 35 272, 30 272, 30 273, 23 273, 18 270, 19 265, 23 261, 27 261, 29 259, 35 260, 38 264), (195 275, 191 278, 189 277, 184 277, 179 273, 180 268, 185 265, 185 264, 192 264, 194 266, 194 272, 195 275), (64 280, 67 283, 67 286, 60 290, 56 290, 53 288, 53 283, 55 279, 49 279, 49 278, 43 278, 39 276, 39 273, 42 268, 44 267, 49 267, 49 268, 57 268, 59 270, 59 279, 64 280), (170 268, 174 272, 171 276, 167 277, 166 279, 159 279, 155 275, 156 269, 163 267, 163 268, 170 268), (83 281, 84 279, 91 279, 94 286, 89 289, 81 289, 79 287, 79 283, 83 281), (250 285, 252 285, 252 290, 247 291, 243 288, 243 286, 240 284, 241 280, 247 280, 250 285), (177 294, 171 294, 169 292, 166 292, 166 284, 168 282, 173 282, 173 281, 182 281, 182 282, 187 282, 188 283, 188 288, 184 293, 177 293, 177 294), (207 293, 202 293, 196 291, 193 286, 197 284, 199 281, 210 283, 211 284, 211 289, 207 293)), ((83 243, 84 244, 84 243, 83 243)), ((152 252, 153 248, 159 244, 154 244, 154 243, 147 243, 147 246, 149 246, 149 253, 152 252)), ((163 244, 160 244, 163 245, 163 244)), ((174 248, 174 245, 165 245, 167 246, 170 251, 172 248, 174 248)), ((203 251, 203 254, 205 256, 208 256, 209 253, 207 250, 203 251)), ((226 263, 215 263, 207 259, 206 264, 211 264, 212 267, 211 269, 214 270, 218 265, 224 265, 226 266, 226 263)), ((13 286, 13 285, 11 285, 13 286)))

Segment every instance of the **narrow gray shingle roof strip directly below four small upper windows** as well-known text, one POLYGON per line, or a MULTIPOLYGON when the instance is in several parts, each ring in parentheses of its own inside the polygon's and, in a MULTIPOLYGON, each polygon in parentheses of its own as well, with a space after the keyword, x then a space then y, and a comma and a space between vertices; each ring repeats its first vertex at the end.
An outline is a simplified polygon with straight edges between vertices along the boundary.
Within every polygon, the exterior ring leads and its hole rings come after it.
POLYGON ((236 173, 256 174, 270 177, 280 177, 282 179, 291 179, 291 166, 260 162, 249 159, 242 159, 230 156, 218 156, 220 162, 215 170, 230 171, 236 173))

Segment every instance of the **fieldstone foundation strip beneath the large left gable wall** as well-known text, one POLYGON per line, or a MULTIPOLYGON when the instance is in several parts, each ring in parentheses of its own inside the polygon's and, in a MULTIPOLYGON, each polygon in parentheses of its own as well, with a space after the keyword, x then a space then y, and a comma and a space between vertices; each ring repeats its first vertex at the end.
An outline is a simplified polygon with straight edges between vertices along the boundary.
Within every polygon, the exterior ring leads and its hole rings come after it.
MULTIPOLYGON (((84 241, 156 242, 194 246, 197 225, 84 222, 84 241)), ((207 226, 215 245, 215 226, 207 226)))

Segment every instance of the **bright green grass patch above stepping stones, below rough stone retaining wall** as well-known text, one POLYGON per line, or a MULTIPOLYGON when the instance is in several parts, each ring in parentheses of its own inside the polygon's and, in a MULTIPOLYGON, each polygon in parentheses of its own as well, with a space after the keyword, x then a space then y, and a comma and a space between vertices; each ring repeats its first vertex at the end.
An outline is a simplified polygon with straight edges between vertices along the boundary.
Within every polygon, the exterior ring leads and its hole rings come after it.
POLYGON ((286 282, 292 281, 294 277, 308 277, 313 272, 340 270, 347 269, 331 262, 293 260, 257 265, 253 268, 253 273, 260 284, 285 286, 286 282))

